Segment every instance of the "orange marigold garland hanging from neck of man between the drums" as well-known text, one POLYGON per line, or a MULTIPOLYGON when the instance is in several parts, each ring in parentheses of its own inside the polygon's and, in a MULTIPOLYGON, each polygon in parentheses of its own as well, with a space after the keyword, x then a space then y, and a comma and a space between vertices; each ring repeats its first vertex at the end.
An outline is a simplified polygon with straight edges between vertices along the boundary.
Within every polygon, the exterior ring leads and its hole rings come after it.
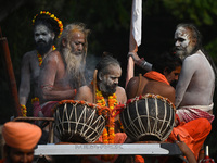
MULTIPOLYGON (((102 92, 97 88, 97 104, 99 106, 106 106, 106 102, 104 97, 102 96, 102 92)), ((112 96, 108 96, 108 108, 110 110, 114 110, 115 105, 117 104, 117 96, 113 93, 112 96)), ((110 116, 110 123, 108 123, 108 131, 106 128, 104 128, 102 133, 102 139, 103 143, 114 143, 115 138, 115 112, 112 112, 112 115, 110 116)), ((103 155, 104 160, 112 160, 114 155, 103 155)))

